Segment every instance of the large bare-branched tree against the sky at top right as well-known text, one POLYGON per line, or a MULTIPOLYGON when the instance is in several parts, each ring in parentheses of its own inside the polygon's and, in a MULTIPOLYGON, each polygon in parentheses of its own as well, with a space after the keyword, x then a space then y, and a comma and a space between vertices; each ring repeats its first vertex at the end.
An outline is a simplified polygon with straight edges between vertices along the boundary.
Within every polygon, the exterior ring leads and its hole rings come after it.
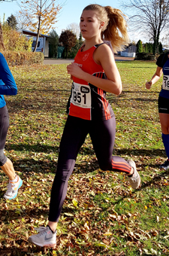
POLYGON ((160 34, 169 26, 169 0, 125 0, 122 7, 132 12, 128 17, 134 30, 146 33, 154 41, 154 55, 158 53, 160 34))

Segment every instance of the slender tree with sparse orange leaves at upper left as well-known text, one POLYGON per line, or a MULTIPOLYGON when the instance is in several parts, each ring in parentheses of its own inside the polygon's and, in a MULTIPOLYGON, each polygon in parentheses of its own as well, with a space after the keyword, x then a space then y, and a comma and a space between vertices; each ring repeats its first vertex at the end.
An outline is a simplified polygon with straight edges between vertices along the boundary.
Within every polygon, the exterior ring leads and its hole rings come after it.
POLYGON ((56 5, 56 0, 23 0, 20 8, 20 15, 26 17, 26 26, 32 32, 37 32, 33 50, 36 51, 40 33, 47 34, 53 28, 62 7, 56 5))

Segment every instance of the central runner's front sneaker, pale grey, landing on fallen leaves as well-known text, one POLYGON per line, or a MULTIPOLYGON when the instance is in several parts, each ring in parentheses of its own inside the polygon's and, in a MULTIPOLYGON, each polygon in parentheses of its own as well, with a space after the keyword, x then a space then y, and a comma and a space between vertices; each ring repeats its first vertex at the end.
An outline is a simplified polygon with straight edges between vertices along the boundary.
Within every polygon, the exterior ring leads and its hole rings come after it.
POLYGON ((29 236, 29 242, 41 247, 55 247, 56 246, 56 231, 53 233, 50 227, 35 227, 39 233, 29 236))

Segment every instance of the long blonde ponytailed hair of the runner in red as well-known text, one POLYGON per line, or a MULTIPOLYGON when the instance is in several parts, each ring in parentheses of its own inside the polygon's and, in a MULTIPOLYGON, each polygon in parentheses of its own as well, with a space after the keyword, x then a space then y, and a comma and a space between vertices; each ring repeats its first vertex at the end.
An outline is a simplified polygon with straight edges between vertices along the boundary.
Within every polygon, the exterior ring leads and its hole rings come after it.
POLYGON ((125 14, 110 6, 87 5, 83 11, 96 11, 98 20, 104 22, 101 29, 101 39, 111 42, 114 53, 122 50, 128 44, 127 23, 125 14))

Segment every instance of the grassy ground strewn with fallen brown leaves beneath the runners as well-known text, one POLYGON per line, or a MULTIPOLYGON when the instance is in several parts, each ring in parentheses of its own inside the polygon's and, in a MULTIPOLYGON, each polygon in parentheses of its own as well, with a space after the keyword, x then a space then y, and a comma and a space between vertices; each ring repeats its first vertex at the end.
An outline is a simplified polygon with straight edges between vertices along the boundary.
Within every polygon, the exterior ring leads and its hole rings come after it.
POLYGON ((18 95, 6 97, 11 124, 7 156, 23 178, 16 200, 5 200, 8 178, 0 172, 0 255, 169 255, 169 171, 158 120, 158 92, 145 82, 155 62, 117 62, 123 91, 107 95, 116 114, 113 154, 132 158, 142 186, 132 190, 125 175, 102 172, 86 139, 57 227, 55 249, 27 239, 47 224, 50 190, 71 90, 66 65, 12 68, 18 95))

